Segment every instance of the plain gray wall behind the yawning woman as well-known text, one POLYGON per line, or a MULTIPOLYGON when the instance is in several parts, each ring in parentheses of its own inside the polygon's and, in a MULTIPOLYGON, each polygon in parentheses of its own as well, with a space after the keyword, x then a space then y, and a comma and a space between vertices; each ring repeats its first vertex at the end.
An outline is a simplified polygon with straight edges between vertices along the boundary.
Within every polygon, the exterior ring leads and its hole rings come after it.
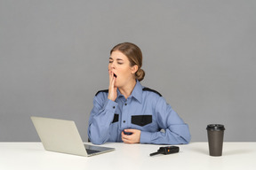
POLYGON ((39 141, 30 116, 75 120, 87 141, 92 99, 108 89, 109 50, 134 42, 142 85, 207 141, 256 141, 256 1, 0 0, 0 142, 39 141))

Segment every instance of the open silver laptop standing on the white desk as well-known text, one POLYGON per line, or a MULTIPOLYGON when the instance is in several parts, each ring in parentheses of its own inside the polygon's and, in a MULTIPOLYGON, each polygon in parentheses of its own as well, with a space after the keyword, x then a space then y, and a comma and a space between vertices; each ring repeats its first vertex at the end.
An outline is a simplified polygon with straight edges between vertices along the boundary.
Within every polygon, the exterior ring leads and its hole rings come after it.
POLYGON ((74 121, 34 116, 31 120, 46 151, 89 157, 115 150, 115 148, 84 144, 74 121))

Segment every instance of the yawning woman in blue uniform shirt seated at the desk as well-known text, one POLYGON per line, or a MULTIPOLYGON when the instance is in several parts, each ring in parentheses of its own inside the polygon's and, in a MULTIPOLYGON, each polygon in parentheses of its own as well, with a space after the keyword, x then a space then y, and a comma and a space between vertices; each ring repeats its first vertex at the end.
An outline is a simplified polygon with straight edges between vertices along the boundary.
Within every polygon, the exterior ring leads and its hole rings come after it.
POLYGON ((142 53, 133 43, 110 51, 109 87, 95 95, 89 119, 92 143, 189 143, 188 125, 158 92, 141 86, 141 66, 142 53))

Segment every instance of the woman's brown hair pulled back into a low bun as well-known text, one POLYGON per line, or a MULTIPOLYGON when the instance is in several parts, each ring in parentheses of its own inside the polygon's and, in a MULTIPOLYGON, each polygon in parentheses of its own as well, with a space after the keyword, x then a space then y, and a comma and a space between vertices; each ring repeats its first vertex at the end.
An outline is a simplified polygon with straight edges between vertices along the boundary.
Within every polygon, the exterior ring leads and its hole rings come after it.
POLYGON ((131 66, 138 66, 138 70, 135 73, 135 78, 138 79, 138 81, 142 81, 144 79, 145 72, 141 69, 142 52, 140 48, 134 43, 124 42, 117 44, 112 50, 110 50, 110 54, 112 54, 112 52, 115 50, 122 52, 129 59, 131 66))

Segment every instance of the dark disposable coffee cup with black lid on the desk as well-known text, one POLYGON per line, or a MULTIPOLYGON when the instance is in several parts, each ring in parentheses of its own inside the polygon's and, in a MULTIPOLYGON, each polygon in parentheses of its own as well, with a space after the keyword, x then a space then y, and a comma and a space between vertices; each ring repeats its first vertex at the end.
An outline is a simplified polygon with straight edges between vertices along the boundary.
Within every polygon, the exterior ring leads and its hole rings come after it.
POLYGON ((208 144, 210 156, 218 157, 222 155, 224 125, 210 124, 207 126, 208 144))

